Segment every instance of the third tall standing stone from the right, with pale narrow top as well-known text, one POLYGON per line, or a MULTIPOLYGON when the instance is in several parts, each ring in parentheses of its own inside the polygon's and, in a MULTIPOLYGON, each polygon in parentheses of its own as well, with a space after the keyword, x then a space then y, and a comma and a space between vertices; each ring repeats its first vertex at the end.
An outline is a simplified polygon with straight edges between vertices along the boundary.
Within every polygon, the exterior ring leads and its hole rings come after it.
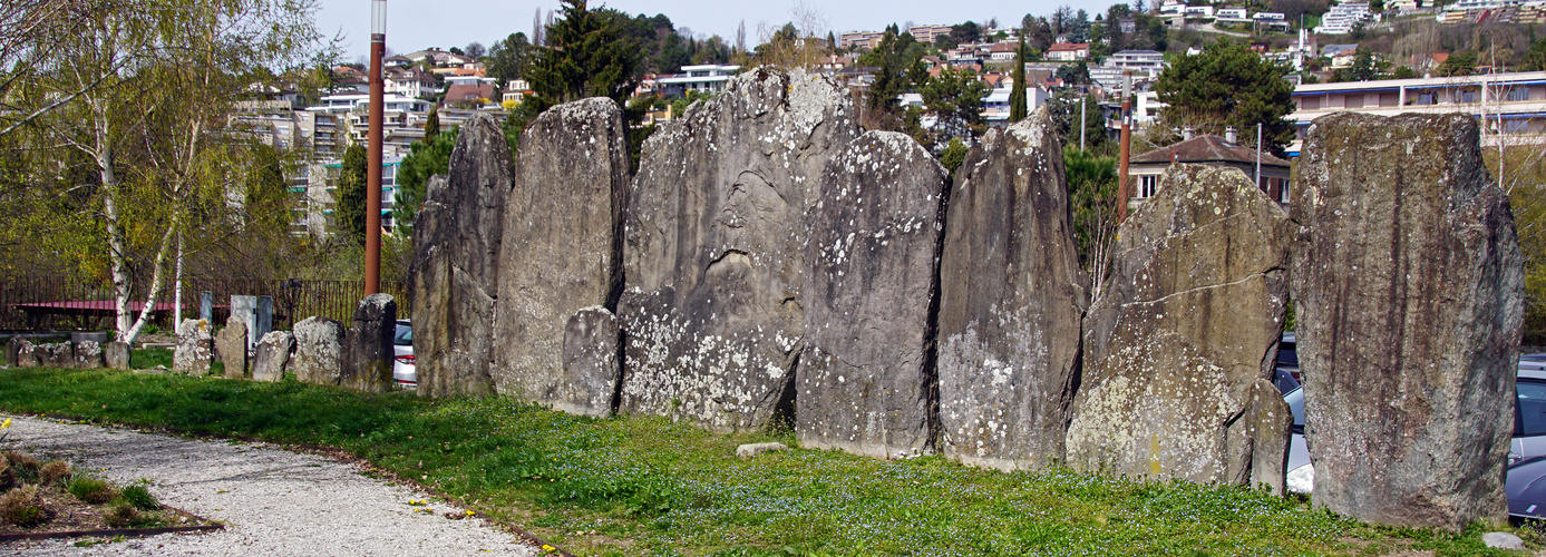
POLYGON ((1062 145, 1042 108, 989 130, 951 189, 938 317, 946 455, 1000 470, 1062 461, 1084 285, 1062 145))

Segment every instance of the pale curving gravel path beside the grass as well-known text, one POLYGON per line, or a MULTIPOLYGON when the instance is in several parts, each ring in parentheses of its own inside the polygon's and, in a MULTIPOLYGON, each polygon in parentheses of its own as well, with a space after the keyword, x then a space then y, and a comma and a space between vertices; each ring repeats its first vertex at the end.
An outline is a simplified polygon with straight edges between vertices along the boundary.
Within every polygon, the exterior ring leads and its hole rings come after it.
MULTIPOLYGON (((0 416, 3 419, 5 416, 0 416)), ((275 446, 192 441, 133 430, 14 418, 5 449, 66 458, 127 484, 150 478, 162 503, 224 531, 164 534, 90 548, 77 540, 0 543, 0 555, 538 555, 518 537, 359 467, 275 446), (104 470, 105 469, 105 470, 104 470)))

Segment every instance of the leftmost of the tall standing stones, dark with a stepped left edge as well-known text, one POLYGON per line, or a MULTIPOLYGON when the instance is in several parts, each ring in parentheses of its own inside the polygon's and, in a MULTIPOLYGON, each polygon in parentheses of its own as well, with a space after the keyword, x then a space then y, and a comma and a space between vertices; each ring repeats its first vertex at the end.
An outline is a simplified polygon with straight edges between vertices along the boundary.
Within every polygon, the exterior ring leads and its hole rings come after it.
POLYGON ((510 161, 499 124, 478 113, 456 136, 450 178, 434 176, 425 187, 408 271, 422 396, 495 391, 489 364, 504 200, 515 181, 510 161))

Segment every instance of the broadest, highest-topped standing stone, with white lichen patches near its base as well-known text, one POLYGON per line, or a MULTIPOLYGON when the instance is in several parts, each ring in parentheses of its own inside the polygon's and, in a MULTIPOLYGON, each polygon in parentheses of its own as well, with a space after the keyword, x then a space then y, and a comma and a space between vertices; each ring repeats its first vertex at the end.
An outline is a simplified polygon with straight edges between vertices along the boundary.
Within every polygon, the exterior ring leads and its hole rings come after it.
POLYGON ((802 215, 858 136, 847 90, 758 68, 645 141, 628 209, 621 410, 762 429, 793 402, 802 215))

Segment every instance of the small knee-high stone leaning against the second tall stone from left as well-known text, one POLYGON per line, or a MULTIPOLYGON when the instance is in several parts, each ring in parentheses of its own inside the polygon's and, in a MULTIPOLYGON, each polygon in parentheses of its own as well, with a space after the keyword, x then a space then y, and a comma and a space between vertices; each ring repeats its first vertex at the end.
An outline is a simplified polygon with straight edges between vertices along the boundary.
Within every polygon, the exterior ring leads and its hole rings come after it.
POLYGON ((564 325, 564 367, 549 402, 581 416, 612 415, 621 367, 617 362, 617 317, 601 306, 583 308, 564 325))

